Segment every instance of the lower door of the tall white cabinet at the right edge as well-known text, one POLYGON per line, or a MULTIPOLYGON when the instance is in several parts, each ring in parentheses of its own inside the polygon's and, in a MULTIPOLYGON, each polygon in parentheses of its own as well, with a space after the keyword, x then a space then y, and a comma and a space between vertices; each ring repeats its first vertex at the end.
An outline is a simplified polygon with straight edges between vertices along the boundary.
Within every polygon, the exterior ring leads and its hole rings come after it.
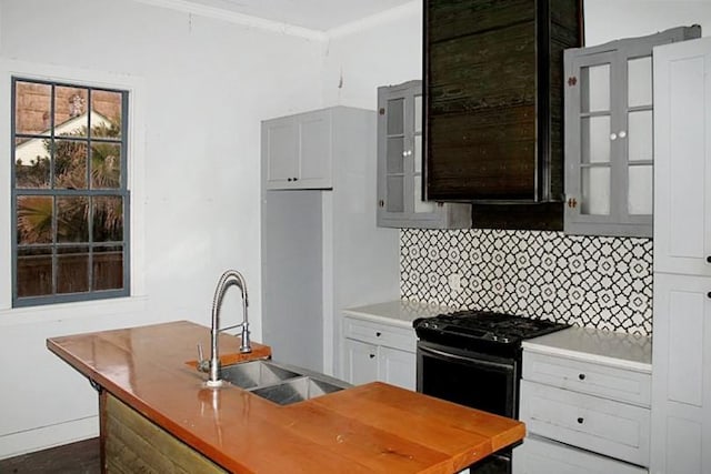
POLYGON ((711 278, 654 275, 655 474, 711 472, 711 278))

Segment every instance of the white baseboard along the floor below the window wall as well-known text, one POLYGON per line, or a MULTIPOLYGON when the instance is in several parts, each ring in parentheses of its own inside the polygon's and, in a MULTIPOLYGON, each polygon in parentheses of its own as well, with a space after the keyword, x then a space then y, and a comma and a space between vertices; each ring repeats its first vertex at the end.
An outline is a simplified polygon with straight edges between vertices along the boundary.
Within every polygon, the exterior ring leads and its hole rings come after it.
POLYGON ((0 460, 99 435, 99 416, 72 420, 0 436, 0 460))

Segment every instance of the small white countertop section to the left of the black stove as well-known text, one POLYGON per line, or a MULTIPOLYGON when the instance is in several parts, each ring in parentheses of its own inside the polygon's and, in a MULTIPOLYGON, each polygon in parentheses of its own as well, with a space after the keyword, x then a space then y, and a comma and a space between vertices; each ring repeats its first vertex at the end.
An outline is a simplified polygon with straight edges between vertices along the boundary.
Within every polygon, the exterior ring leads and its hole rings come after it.
POLYGON ((455 311, 455 309, 408 300, 394 300, 343 310, 344 313, 350 315, 407 327, 412 327, 412 322, 418 317, 432 317, 442 313, 451 313, 452 311, 455 311))

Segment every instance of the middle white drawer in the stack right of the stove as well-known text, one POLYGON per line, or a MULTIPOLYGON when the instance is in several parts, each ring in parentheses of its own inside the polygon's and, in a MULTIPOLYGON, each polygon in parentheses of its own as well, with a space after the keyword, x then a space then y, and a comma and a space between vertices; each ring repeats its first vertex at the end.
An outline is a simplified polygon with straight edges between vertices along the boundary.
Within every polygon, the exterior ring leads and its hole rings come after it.
POLYGON ((649 465, 649 409, 523 380, 520 417, 531 434, 649 465))

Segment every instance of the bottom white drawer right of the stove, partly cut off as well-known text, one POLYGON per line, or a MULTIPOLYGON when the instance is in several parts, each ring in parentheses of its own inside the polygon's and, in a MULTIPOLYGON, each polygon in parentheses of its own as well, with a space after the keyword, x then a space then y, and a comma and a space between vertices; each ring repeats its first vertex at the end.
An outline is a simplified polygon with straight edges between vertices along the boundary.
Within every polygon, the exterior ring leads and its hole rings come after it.
POLYGON ((513 450, 513 474, 645 474, 643 467, 538 436, 513 450))

